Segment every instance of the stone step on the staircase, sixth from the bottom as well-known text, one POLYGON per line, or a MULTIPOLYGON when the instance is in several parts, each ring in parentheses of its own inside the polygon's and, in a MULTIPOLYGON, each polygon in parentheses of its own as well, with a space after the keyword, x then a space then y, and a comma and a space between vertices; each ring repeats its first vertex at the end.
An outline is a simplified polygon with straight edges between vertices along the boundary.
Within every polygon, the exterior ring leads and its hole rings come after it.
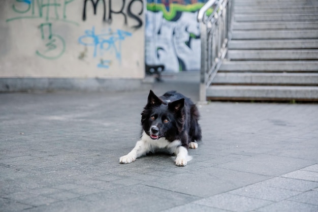
POLYGON ((318 29, 312 30, 252 30, 233 31, 232 40, 239 39, 316 39, 318 29))

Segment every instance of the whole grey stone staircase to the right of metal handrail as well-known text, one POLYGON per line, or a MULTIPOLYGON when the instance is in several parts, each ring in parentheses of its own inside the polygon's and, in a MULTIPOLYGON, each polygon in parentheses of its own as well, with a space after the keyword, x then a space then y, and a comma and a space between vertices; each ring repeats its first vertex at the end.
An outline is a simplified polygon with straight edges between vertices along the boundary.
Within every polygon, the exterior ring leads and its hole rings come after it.
POLYGON ((208 100, 318 101, 318 1, 234 0, 208 100))

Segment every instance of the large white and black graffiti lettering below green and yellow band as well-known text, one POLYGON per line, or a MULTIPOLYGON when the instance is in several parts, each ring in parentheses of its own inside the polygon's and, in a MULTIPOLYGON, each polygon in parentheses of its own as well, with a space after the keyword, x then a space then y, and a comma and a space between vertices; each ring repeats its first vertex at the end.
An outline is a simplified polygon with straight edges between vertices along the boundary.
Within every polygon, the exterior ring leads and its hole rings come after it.
POLYGON ((165 65, 167 71, 200 68, 200 31, 197 13, 183 12, 168 21, 162 12, 147 11, 146 63, 165 65), (161 24, 153 24, 157 23, 161 24))

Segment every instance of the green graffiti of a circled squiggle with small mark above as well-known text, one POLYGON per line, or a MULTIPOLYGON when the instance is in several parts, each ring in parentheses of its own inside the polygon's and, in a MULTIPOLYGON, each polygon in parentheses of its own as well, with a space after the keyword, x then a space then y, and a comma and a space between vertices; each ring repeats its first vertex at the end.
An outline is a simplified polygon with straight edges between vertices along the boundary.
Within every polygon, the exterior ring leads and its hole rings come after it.
POLYGON ((65 41, 57 35, 52 34, 52 23, 42 23, 39 26, 41 31, 41 39, 45 47, 36 51, 38 56, 45 59, 56 59, 65 52, 65 41))

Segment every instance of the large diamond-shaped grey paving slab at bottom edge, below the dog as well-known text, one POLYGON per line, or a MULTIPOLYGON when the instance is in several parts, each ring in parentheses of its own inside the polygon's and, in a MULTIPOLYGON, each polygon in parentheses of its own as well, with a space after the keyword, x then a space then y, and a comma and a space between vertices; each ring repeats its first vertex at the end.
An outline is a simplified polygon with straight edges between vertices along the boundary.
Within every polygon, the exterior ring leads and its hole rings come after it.
MULTIPOLYGON (((92 208, 97 211, 160 211, 188 201, 195 201, 198 197, 175 193, 167 190, 151 188, 142 185, 122 187, 116 190, 92 194, 79 200, 93 203, 92 208)), ((56 206, 60 207, 60 206, 56 206)), ((87 206, 86 206, 87 208, 87 206)), ((87 208, 86 211, 91 211, 87 208)))

